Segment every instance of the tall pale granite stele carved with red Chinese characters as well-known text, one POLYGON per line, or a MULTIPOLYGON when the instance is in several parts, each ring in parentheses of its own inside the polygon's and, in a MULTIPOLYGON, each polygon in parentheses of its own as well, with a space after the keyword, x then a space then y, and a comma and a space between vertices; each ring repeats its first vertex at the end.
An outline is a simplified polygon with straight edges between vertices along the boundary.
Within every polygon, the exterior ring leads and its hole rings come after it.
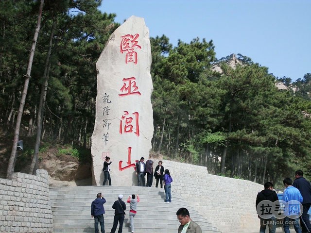
POLYGON ((96 64, 93 185, 103 185, 105 156, 112 162, 112 185, 138 183, 135 164, 140 157, 147 161, 153 136, 150 66, 149 30, 143 18, 132 16, 110 36, 96 64))

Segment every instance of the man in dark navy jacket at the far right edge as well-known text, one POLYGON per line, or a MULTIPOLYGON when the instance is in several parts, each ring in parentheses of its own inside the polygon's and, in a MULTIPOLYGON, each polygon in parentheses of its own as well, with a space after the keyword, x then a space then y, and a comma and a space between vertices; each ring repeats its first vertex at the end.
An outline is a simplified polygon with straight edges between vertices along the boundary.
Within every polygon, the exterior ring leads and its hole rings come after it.
POLYGON ((311 184, 303 177, 302 170, 295 172, 295 180, 293 186, 298 188, 303 198, 303 212, 300 217, 300 225, 303 233, 311 232, 311 224, 309 221, 308 210, 311 206, 311 184))

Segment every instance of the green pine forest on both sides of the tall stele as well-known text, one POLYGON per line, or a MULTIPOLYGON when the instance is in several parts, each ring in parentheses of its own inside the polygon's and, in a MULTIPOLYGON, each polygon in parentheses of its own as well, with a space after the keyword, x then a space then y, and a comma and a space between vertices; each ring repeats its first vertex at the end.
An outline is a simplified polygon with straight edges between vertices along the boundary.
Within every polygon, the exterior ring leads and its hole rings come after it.
MULTIPOLYGON (((55 34, 43 110, 45 141, 75 145, 58 150, 90 162, 95 121, 96 61, 119 26, 115 14, 100 12, 101 0, 45 2, 25 102, 23 134, 35 135, 38 102, 52 25, 55 34)), ((0 126, 13 132, 23 75, 37 20, 37 1, 0 1, 0 126)), ((295 169, 311 174, 311 74, 291 83, 240 53, 242 62, 216 60, 213 41, 194 38, 173 47, 165 35, 150 38, 153 150, 216 174, 277 183, 295 169), (218 64, 223 73, 211 71, 218 64), (289 90, 277 90, 276 81, 289 90)), ((51 145, 40 146, 40 153, 51 145)), ((20 153, 20 152, 19 152, 20 153)), ((29 160, 31 148, 19 154, 29 160)))

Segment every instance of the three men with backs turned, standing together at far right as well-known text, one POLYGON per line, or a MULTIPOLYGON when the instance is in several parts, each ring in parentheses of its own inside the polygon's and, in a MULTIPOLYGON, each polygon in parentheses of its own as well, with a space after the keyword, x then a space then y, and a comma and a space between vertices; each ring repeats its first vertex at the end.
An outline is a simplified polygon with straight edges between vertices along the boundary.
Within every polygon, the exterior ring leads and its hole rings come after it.
MULTIPOLYGON (((278 206, 279 210, 276 215, 280 215, 282 204, 280 202, 289 203, 285 204, 285 211, 282 218, 283 229, 285 233, 290 233, 290 225, 294 226, 296 233, 310 233, 311 224, 309 221, 308 211, 311 206, 311 184, 303 177, 302 170, 295 172, 295 180, 285 178, 283 180, 285 190, 283 192, 282 201, 278 200, 276 192, 273 190, 273 183, 267 182, 264 184, 264 190, 258 193, 256 199, 256 209, 259 214, 258 207, 262 210, 259 215, 260 229, 259 233, 265 233, 266 227, 269 228, 269 233, 276 232, 276 216, 264 216, 264 211, 267 210, 266 201, 271 201, 278 206), (301 204, 300 204, 301 203, 301 204), (302 209, 300 209, 300 205, 302 209), (299 217, 300 216, 300 217, 299 217), (300 225, 299 225, 300 219, 300 225), (300 228, 301 227, 301 228, 300 228)), ((271 214, 267 213, 267 214, 271 214)))

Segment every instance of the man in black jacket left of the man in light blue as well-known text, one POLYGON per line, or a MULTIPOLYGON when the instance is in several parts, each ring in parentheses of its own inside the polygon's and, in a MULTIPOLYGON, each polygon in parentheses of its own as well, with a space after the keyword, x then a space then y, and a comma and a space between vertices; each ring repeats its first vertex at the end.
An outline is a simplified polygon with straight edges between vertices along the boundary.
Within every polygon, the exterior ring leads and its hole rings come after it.
MULTIPOLYGON (((273 191, 273 184, 271 182, 265 183, 264 190, 258 193, 257 198, 256 198, 256 209, 260 201, 263 201, 263 200, 270 200, 271 202, 275 202, 278 200, 276 192, 273 191)), ((271 208, 272 208, 272 204, 271 204, 271 208)), ((258 217, 260 218, 259 233, 265 233, 267 225, 269 227, 269 233, 276 232, 276 217, 275 216, 272 216, 268 219, 261 218, 260 216, 258 217)))

